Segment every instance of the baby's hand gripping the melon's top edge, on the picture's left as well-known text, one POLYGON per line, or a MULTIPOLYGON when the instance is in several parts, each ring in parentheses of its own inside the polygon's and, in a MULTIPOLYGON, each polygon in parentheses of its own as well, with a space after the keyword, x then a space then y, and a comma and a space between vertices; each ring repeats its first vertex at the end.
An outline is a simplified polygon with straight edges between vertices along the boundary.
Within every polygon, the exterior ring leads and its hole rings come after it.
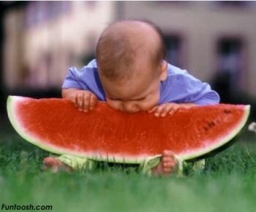
POLYGON ((97 97, 88 90, 65 89, 62 91, 63 98, 68 98, 79 111, 87 112, 97 105, 97 97))

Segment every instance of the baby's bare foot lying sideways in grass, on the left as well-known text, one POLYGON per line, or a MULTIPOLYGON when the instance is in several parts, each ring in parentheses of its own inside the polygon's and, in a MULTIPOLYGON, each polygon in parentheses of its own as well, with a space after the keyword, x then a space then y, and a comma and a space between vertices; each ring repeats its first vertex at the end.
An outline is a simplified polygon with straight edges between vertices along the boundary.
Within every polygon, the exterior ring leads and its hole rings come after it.
POLYGON ((55 157, 45 157, 42 161, 44 170, 51 170, 53 173, 59 172, 59 170, 65 170, 70 172, 72 168, 69 165, 64 164, 55 157))

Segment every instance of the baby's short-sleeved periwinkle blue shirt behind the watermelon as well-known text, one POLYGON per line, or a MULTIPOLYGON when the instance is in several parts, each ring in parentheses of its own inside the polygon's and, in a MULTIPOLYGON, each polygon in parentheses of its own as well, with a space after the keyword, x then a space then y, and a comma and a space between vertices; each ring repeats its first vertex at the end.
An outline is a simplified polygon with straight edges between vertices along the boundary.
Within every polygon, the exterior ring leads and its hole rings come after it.
MULTIPOLYGON (((95 59, 80 70, 75 67, 69 68, 62 88, 89 90, 99 101, 106 101, 95 59)), ((211 90, 208 83, 201 82, 187 71, 168 63, 167 79, 160 85, 159 104, 170 102, 208 105, 219 103, 219 95, 211 90)))

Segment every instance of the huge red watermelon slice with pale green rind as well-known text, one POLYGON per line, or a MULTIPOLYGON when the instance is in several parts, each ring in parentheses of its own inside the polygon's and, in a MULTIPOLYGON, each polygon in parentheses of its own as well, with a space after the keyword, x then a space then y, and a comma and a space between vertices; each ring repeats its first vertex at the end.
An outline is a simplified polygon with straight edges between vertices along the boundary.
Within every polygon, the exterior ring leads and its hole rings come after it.
POLYGON ((56 154, 127 163, 140 163, 164 149, 182 160, 208 154, 236 136, 246 123, 249 108, 195 106, 155 117, 146 111, 115 111, 103 102, 84 113, 61 98, 9 96, 7 100, 12 126, 31 144, 56 154))

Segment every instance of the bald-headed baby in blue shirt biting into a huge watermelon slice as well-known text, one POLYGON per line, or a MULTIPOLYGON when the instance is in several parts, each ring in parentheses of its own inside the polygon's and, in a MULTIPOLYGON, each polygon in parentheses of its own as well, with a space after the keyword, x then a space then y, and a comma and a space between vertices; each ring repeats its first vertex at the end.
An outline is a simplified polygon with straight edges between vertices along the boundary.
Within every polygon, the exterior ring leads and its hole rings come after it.
MULTIPOLYGON (((79 111, 93 110, 106 101, 116 110, 148 111, 157 117, 174 114, 179 107, 219 103, 219 95, 194 76, 165 61, 162 33, 156 25, 140 20, 121 20, 102 32, 97 42, 97 60, 80 71, 70 68, 62 96, 79 111)), ((46 168, 72 168, 54 157, 46 168)), ((154 175, 168 175, 176 168, 176 157, 165 149, 154 175)))

